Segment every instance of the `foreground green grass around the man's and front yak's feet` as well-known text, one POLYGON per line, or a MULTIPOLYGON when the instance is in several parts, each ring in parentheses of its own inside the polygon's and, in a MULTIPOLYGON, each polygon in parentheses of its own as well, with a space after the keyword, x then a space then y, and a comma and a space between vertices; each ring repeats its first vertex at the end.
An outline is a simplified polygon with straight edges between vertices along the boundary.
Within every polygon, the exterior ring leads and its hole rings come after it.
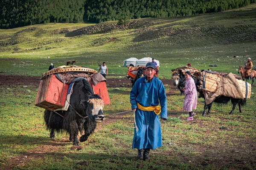
MULTIPOLYGON (((130 89, 119 89, 108 89, 111 104, 104 108, 105 115, 130 109, 130 89)), ((255 93, 256 90, 253 89, 252 92, 255 93)), ((256 138, 254 95, 247 101, 242 114, 236 108, 234 114, 229 115, 230 104, 213 104, 212 114, 202 117, 200 114, 204 105, 198 102, 195 121, 189 122, 185 120, 187 113, 182 107, 173 109, 172 105, 168 104, 168 119, 161 121, 163 147, 151 151, 151 161, 135 160, 137 151, 131 149, 134 131, 132 113, 123 115, 100 129, 96 128, 96 132, 90 135, 88 141, 81 143, 83 149, 76 151, 70 149, 72 143, 68 142, 65 134, 57 135, 55 140, 49 138, 49 132, 43 123, 43 109, 33 105, 35 96, 34 86, 1 86, 2 168, 15 167, 10 163, 14 158, 20 160, 14 169, 42 170, 67 167, 120 170, 138 167, 163 170, 241 167, 253 169, 256 166, 253 157, 255 148, 251 147, 256 138), (4 92, 7 89, 8 93, 4 92), (229 157, 236 159, 224 160, 229 157), (223 161, 226 163, 220 164, 223 161), (236 164, 238 161, 247 163, 236 164)), ((183 98, 175 94, 168 96, 167 100, 174 103, 179 100, 178 105, 181 105, 183 98)), ((108 120, 111 120, 111 117, 105 121, 108 120)))

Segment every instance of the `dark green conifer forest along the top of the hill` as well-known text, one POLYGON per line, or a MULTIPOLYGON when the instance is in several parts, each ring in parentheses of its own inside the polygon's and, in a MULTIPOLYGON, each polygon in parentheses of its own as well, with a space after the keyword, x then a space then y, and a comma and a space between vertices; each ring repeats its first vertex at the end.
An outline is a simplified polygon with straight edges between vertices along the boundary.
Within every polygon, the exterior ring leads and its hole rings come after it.
POLYGON ((1 0, 0 29, 221 12, 256 0, 1 0))

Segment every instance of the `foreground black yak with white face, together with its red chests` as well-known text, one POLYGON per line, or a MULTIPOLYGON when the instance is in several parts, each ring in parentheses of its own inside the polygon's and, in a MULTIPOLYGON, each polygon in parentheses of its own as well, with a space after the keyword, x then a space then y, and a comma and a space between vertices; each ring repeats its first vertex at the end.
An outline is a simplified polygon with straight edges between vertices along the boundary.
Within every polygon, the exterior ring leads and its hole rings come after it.
POLYGON ((45 109, 44 123, 50 138, 66 132, 73 145, 87 141, 96 122, 104 120, 106 104, 110 104, 106 79, 93 69, 75 65, 43 73, 35 100, 36 106, 45 109))

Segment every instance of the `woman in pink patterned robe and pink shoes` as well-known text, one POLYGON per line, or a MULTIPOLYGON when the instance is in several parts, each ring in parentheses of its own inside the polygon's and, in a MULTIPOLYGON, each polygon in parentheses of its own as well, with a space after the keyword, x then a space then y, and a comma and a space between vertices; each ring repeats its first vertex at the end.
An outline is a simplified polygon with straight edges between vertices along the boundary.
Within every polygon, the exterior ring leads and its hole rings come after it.
POLYGON ((185 72, 186 85, 183 87, 182 91, 185 92, 185 99, 183 104, 183 109, 186 112, 189 112, 189 117, 186 119, 187 121, 192 121, 195 112, 192 109, 196 109, 197 106, 197 91, 195 86, 195 81, 191 77, 189 71, 185 72))

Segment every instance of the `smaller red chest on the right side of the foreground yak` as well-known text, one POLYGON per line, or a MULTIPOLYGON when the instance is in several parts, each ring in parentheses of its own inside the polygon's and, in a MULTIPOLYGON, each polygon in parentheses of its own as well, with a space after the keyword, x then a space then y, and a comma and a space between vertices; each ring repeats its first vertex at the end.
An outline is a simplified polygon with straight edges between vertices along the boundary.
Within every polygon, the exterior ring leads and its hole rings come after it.
POLYGON ((97 94, 102 98, 102 100, 104 101, 104 105, 110 104, 106 81, 101 81, 96 84, 96 86, 91 84, 91 86, 93 87, 94 94, 97 94))

